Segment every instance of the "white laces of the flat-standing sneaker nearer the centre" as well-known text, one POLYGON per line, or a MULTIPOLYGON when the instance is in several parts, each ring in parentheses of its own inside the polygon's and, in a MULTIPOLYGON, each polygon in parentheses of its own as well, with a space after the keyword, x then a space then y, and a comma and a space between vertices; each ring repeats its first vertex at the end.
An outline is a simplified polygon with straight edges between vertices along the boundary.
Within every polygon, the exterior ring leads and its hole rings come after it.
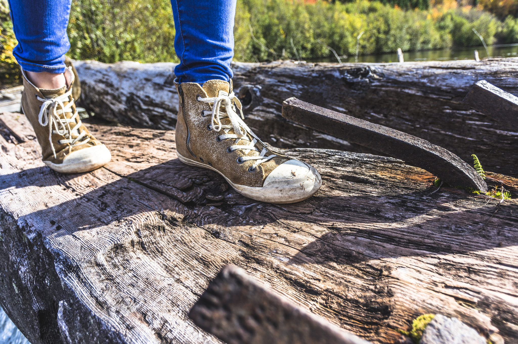
POLYGON ((243 122, 244 116, 242 111, 241 102, 236 97, 234 92, 232 92, 229 95, 222 94, 218 97, 211 97, 211 98, 202 98, 198 96, 198 101, 203 101, 205 103, 213 103, 212 104, 212 111, 203 111, 203 115, 212 115, 212 121, 211 124, 209 124, 209 129, 213 129, 216 132, 219 132, 223 130, 225 133, 218 136, 217 140, 219 139, 236 139, 234 144, 230 147, 228 147, 227 152, 235 151, 236 149, 242 149, 244 151, 244 154, 248 154, 250 151, 256 151, 260 152, 258 156, 243 156, 238 158, 238 162, 242 163, 244 161, 248 160, 256 160, 254 164, 250 167, 250 170, 253 171, 257 167, 258 164, 266 162, 270 159, 275 158, 277 155, 272 154, 270 156, 265 157, 266 152, 268 152, 268 149, 266 149, 265 144, 250 130, 250 128, 243 122), (237 108, 239 109, 239 112, 241 113, 241 117, 236 113, 234 110, 234 106, 232 105, 232 102, 236 103, 237 108), (221 111, 221 106, 225 107, 225 111, 221 111), (228 117, 230 119, 231 125, 222 125, 221 119, 228 117), (229 134, 228 131, 230 129, 234 129, 234 134, 229 134), (250 136, 253 137, 252 141, 250 141, 250 138, 247 136, 247 133, 250 134, 250 136), (245 140, 250 142, 247 145, 241 145, 238 144, 239 141, 245 140), (255 147, 255 144, 257 142, 260 142, 263 145, 263 149, 260 151, 255 147))

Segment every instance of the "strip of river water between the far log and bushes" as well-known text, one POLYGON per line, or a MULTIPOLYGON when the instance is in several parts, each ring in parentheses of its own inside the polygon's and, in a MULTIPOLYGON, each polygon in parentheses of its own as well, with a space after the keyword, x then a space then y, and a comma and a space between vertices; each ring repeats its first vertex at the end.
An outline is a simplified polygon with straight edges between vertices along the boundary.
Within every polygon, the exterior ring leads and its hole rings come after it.
MULTIPOLYGON (((501 56, 501 57, 518 57, 518 44, 499 44, 495 46, 487 47, 489 55, 484 48, 480 47, 469 47, 469 48, 451 48, 451 49, 439 49, 439 50, 421 50, 421 51, 409 51, 404 52, 403 57, 406 62, 411 61, 452 61, 457 59, 474 59, 473 50, 478 50, 479 57, 484 58, 486 56, 501 56)), ((372 55, 361 55, 361 51, 358 55, 358 62, 398 62, 397 53, 385 53, 385 54, 372 54, 372 55)), ((339 56, 341 62, 354 62, 355 56, 339 56)), ((335 56, 308 59, 308 62, 337 62, 335 56)))

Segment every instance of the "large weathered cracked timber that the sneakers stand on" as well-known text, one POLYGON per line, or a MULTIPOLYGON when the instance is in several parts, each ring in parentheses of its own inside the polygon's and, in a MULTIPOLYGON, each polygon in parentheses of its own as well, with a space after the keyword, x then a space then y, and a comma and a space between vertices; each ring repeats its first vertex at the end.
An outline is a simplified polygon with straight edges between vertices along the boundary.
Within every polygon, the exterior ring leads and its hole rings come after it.
MULTIPOLYGON (((218 343, 188 312, 229 263, 373 343, 408 342, 423 313, 516 343, 518 200, 431 193, 434 176, 400 160, 298 148, 284 153, 322 189, 255 202, 182 164, 172 130, 95 125, 112 161, 64 175, 23 115, 0 119, 24 141, 0 137, 0 304, 33 344, 218 343)), ((487 175, 516 197, 518 180, 487 175)))

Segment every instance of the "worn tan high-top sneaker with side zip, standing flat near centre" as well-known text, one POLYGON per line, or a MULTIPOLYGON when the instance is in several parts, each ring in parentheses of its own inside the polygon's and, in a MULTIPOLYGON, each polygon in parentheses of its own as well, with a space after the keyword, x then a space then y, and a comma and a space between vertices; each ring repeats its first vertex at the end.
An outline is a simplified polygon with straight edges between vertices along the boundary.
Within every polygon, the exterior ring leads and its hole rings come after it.
POLYGON ((257 201, 298 202, 321 187, 322 178, 312 166, 270 152, 242 121, 232 80, 176 85, 176 149, 181 161, 220 173, 236 191, 257 201))

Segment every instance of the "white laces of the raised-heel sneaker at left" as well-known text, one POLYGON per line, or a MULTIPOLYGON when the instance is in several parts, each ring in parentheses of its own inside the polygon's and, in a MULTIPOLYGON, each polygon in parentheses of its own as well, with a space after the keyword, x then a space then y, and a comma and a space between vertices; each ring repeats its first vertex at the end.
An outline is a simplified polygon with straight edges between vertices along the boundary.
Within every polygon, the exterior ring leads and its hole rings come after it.
POLYGON ((90 141, 89 137, 84 141, 79 141, 87 133, 84 130, 81 132, 78 130, 81 126, 81 120, 79 119, 77 110, 70 118, 60 117, 61 114, 63 114, 63 117, 66 117, 65 113, 72 112, 74 98, 71 97, 71 94, 72 88, 70 87, 68 92, 56 98, 40 98, 36 95, 36 98, 43 102, 39 110, 38 122, 41 126, 49 126, 49 142, 52 147, 52 153, 54 153, 54 158, 56 157, 56 151, 52 143, 52 134, 59 134, 65 137, 64 140, 57 140, 58 144, 70 143, 71 146, 77 146, 90 141), (63 105, 64 101, 68 101, 68 104, 63 105), (60 110, 56 110, 58 106, 61 107, 60 110), (77 124, 73 128, 70 128, 70 123, 76 123, 76 118, 77 124), (52 127, 54 127, 55 130, 52 130, 52 127))

